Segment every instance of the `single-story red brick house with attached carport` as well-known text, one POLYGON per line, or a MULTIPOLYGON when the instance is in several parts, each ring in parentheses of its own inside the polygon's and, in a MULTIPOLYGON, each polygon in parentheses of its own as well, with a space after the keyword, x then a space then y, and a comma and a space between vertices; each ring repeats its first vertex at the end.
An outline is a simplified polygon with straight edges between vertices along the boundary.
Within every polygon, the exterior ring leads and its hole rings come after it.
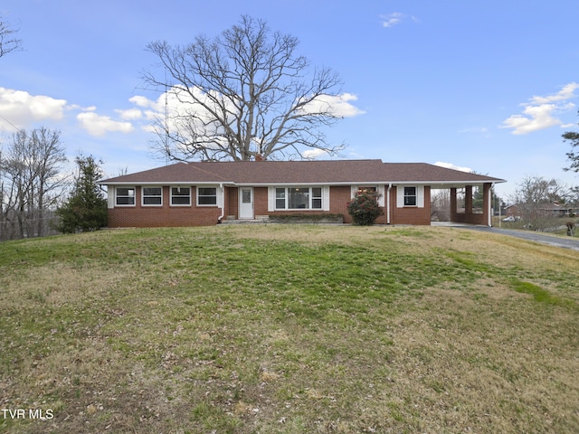
POLYGON ((432 189, 451 190, 451 220, 491 224, 490 191, 505 180, 425 163, 382 160, 176 163, 99 182, 108 191, 109 227, 204 226, 291 213, 340 213, 356 192, 381 194, 376 223, 431 224, 432 189), (472 209, 482 188, 483 209, 472 209), (464 212, 457 189, 465 191, 464 212))

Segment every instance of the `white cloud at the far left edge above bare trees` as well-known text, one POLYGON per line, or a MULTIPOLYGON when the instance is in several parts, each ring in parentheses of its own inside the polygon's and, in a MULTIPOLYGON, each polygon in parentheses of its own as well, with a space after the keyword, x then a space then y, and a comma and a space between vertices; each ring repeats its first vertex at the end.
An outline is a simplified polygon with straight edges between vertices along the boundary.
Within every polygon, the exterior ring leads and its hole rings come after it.
MULTIPOLYGON (((31 122, 61 120, 66 108, 65 99, 0 88, 0 116, 16 127, 25 127, 31 122)), ((0 129, 2 127, 0 124, 0 129)))

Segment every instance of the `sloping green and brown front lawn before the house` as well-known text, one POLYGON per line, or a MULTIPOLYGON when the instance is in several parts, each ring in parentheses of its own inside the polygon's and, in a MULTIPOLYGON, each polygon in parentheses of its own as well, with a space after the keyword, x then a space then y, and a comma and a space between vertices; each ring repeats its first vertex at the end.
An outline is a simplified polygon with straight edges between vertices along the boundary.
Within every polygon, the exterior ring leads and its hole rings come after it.
POLYGON ((578 264, 430 227, 0 243, 0 433, 579 432, 578 264))

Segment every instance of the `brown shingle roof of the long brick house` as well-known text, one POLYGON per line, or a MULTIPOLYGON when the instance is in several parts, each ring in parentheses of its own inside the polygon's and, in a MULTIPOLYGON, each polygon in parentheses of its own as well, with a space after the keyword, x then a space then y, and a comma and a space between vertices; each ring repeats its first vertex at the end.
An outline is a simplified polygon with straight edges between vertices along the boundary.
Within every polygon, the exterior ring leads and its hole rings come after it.
POLYGON ((501 183, 426 163, 382 160, 232 161, 166 165, 100 181, 100 184, 388 184, 501 183))

